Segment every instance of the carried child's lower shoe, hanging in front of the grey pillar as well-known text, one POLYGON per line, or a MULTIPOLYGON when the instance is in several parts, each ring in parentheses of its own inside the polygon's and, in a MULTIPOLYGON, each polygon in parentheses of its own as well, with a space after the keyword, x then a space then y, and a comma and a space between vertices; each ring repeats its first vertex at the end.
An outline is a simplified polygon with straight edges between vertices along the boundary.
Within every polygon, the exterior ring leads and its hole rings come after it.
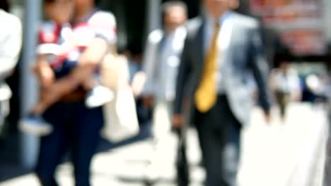
POLYGON ((47 123, 41 116, 29 115, 22 118, 18 123, 18 129, 32 135, 45 136, 53 131, 52 125, 47 123))

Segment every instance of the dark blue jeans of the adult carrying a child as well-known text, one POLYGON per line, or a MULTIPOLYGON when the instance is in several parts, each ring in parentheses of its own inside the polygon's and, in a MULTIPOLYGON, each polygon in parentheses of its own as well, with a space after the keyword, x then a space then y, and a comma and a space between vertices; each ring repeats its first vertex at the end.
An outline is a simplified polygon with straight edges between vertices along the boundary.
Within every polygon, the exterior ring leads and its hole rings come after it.
POLYGON ((69 150, 76 185, 91 185, 90 165, 103 125, 102 109, 87 109, 83 101, 58 103, 45 112, 44 118, 54 131, 41 139, 36 173, 42 185, 57 185, 55 170, 69 150))

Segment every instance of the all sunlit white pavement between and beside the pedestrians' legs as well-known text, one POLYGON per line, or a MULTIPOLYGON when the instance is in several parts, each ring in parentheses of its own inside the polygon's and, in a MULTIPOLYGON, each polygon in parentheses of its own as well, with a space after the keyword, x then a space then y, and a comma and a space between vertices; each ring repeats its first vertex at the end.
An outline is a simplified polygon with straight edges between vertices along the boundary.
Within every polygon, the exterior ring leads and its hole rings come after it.
MULTIPOLYGON (((242 186, 319 186, 325 141, 325 112, 309 104, 292 104, 284 124, 273 111, 267 125, 260 109, 252 114, 252 125, 243 131, 242 165, 238 179, 242 186), (306 177, 305 177, 306 176, 306 177)), ((175 143, 175 136, 170 137, 175 143)), ((199 166, 197 135, 189 134, 188 155, 192 170, 192 186, 203 185, 204 171, 199 166)), ((170 148, 171 149, 171 148, 170 148)), ((156 186, 175 185, 173 162, 175 149, 164 154, 162 178, 156 186), (168 161, 166 161, 168 160, 168 161)), ((151 147, 137 142, 97 154, 93 159, 93 185, 142 186, 151 147)), ((61 185, 73 185, 72 166, 59 166, 61 185)), ((33 174, 1 182, 1 186, 38 185, 33 174)))

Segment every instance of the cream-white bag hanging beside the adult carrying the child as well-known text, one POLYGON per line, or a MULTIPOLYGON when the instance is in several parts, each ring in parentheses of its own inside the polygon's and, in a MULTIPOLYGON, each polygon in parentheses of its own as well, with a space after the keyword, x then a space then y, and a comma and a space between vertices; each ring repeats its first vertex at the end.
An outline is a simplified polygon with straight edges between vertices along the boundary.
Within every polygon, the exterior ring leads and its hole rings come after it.
POLYGON ((101 135, 120 142, 139 133, 134 94, 129 87, 129 68, 123 56, 106 56, 101 72, 103 85, 114 91, 113 101, 103 106, 105 123, 101 135))

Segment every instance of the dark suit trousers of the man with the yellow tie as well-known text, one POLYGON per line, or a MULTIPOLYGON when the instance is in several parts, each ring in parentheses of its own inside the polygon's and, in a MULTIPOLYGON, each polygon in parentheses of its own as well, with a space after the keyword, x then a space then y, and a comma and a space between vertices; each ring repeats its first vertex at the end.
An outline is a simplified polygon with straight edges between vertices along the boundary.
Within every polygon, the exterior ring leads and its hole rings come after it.
POLYGON ((226 96, 219 96, 207 113, 195 111, 207 186, 237 185, 241 125, 233 116, 226 96))

